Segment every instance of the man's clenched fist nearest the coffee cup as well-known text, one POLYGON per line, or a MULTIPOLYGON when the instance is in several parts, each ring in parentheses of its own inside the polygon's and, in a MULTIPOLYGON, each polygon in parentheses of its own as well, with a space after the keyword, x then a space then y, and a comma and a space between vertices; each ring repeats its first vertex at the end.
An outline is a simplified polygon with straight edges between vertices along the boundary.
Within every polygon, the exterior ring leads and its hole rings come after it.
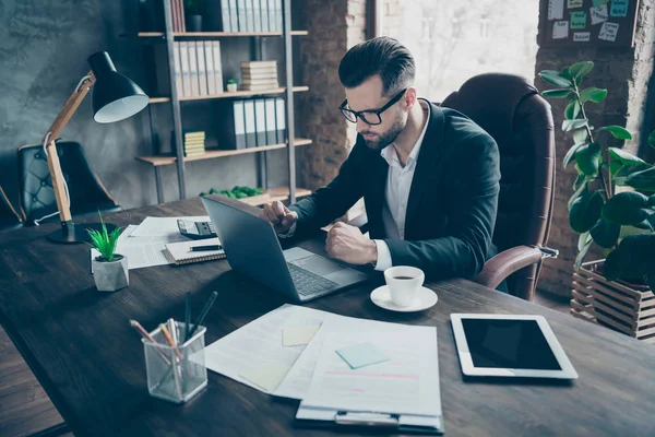
POLYGON ((367 264, 378 261, 376 241, 368 239, 358 227, 336 223, 327 233, 325 250, 332 258, 350 264, 367 264))

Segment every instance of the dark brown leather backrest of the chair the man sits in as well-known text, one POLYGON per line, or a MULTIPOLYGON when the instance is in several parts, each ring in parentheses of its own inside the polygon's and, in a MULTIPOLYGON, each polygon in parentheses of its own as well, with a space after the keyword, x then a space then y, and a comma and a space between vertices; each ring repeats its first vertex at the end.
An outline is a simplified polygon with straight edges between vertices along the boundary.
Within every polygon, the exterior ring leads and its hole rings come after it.
MULTIPOLYGON (((442 106, 485 129, 500 151, 500 197, 493 244, 499 250, 546 245, 555 199, 555 132, 550 105, 524 78, 487 73, 466 81, 442 106)), ((508 280, 510 293, 534 293, 540 264, 508 280)))

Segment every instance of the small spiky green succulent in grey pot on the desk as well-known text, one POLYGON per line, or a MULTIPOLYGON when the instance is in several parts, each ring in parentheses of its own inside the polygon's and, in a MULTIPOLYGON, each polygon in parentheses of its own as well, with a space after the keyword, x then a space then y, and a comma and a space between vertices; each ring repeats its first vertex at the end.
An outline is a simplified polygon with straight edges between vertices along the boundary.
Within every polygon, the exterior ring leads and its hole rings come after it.
POLYGON ((88 229, 90 246, 100 253, 92 259, 93 279, 99 292, 116 292, 129 285, 128 258, 115 252, 121 228, 108 233, 102 215, 100 223, 103 232, 88 229))

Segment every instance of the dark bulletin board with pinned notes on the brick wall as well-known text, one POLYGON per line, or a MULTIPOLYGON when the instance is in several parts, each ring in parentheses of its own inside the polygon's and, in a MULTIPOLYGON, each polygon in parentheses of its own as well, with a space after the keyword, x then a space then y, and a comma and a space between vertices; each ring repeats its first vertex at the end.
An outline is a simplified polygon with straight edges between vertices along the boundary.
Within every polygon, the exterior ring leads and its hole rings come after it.
POLYGON ((546 0, 540 47, 634 46, 640 0, 546 0))

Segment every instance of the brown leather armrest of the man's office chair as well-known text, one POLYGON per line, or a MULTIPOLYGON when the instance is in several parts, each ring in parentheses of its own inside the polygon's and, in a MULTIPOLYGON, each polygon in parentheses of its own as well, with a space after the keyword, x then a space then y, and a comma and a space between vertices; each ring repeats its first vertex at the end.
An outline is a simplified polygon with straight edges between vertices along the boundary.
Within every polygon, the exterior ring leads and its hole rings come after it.
POLYGON ((487 261, 473 282, 496 288, 512 273, 539 262, 543 258, 557 258, 558 255, 557 250, 543 246, 512 247, 487 261))

